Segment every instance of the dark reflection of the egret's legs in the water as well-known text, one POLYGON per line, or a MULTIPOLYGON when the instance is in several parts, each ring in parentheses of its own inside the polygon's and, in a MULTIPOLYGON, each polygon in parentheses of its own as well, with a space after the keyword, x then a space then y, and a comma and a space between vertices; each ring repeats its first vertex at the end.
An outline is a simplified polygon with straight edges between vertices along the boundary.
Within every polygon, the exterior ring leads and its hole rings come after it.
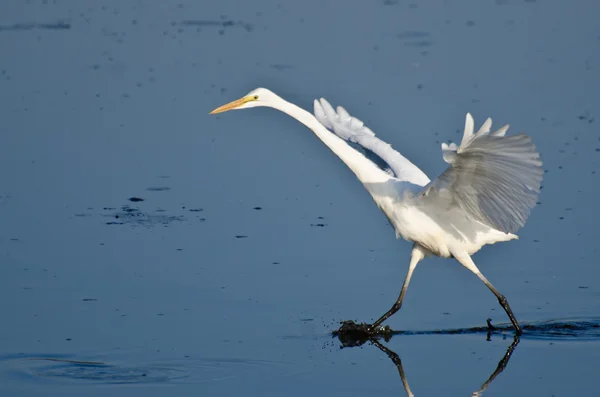
MULTIPOLYGON (((487 332, 487 340, 491 339, 492 333, 493 333, 492 330, 489 330, 487 332)), ((389 335, 385 336, 383 339, 385 339, 385 341, 387 342, 387 341, 389 341, 391 339, 392 335, 394 335, 394 334, 389 334, 389 335)), ((342 335, 337 335, 337 336, 340 339, 340 342, 342 342, 342 347, 360 346, 360 345, 365 344, 366 342, 370 342, 373 346, 377 347, 379 350, 381 350, 382 352, 384 352, 392 360, 392 362, 394 363, 394 365, 398 369, 398 374, 400 375, 400 379, 402 381, 402 386, 404 387, 404 390, 406 391, 406 394, 409 397, 414 397, 414 394, 413 394, 413 392, 410 389, 410 386, 408 384, 408 380, 407 380, 407 377, 406 377, 406 373, 404 372, 404 367, 402 366, 402 360, 400 359, 400 356, 396 352, 394 352, 394 351, 388 349, 386 346, 384 346, 380 342, 380 338, 376 338, 376 337, 369 338, 369 337, 366 337, 364 339, 352 339, 352 340, 350 340, 348 338, 343 338, 342 335)), ((508 361, 512 357, 512 354, 514 353, 515 348, 517 347, 518 344, 519 344, 519 336, 516 335, 514 337, 512 343, 508 347, 508 349, 506 349, 506 353, 504 353, 504 356, 498 362, 498 366, 496 367, 495 371, 479 387, 479 389, 477 389, 476 391, 473 392, 473 394, 471 395, 471 397, 480 397, 480 396, 483 395, 483 392, 494 381, 494 379, 496 379, 498 377, 498 375, 500 375, 502 373, 502 371, 504 371, 504 369, 508 365, 508 361)))

